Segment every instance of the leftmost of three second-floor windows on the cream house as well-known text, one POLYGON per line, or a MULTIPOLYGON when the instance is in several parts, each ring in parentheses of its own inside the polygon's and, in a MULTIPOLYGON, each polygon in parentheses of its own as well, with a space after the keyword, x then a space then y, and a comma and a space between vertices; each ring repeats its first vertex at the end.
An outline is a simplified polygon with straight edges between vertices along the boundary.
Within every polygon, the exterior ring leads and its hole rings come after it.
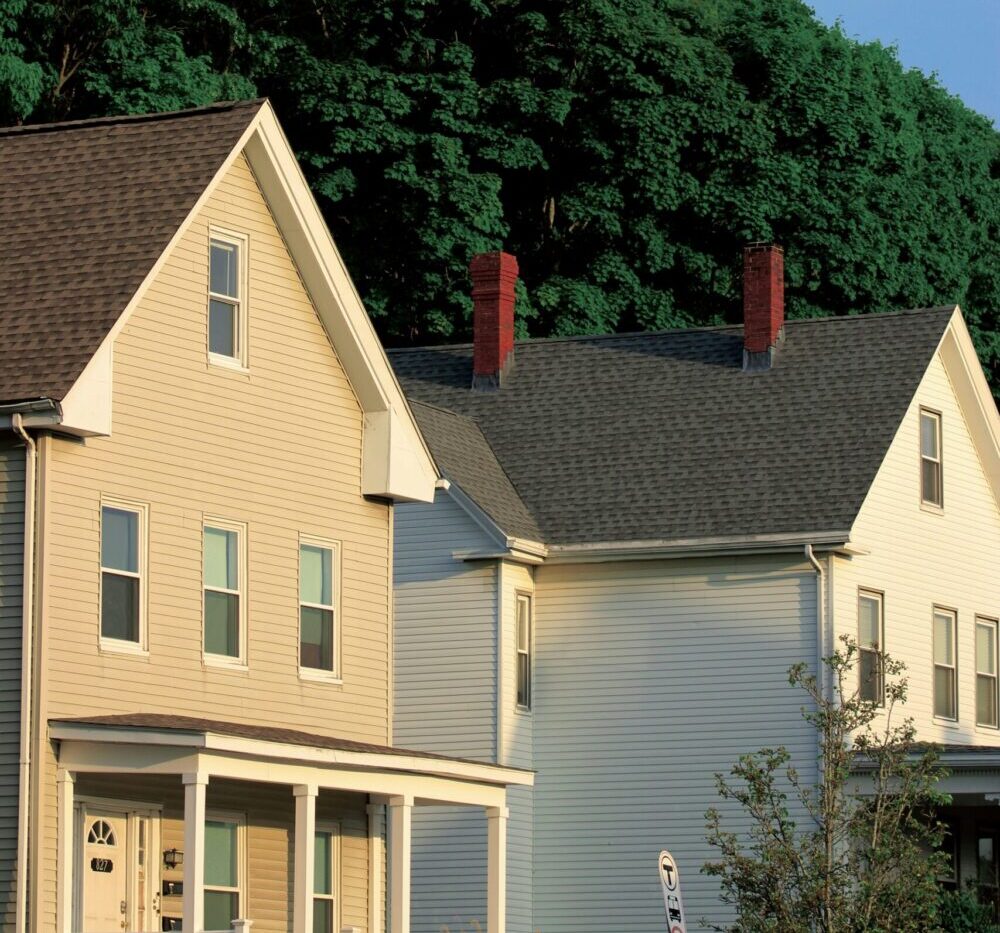
POLYGON ((101 505, 101 642, 109 647, 143 647, 146 518, 143 505, 101 505))

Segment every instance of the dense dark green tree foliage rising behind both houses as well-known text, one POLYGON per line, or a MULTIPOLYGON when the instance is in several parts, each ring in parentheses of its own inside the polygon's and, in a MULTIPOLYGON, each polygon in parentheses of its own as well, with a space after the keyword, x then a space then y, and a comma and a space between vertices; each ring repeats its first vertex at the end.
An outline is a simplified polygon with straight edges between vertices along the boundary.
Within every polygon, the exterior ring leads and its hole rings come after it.
POLYGON ((0 0, 0 120, 270 96, 389 342, 960 302, 1000 385, 1000 134, 802 0, 0 0))

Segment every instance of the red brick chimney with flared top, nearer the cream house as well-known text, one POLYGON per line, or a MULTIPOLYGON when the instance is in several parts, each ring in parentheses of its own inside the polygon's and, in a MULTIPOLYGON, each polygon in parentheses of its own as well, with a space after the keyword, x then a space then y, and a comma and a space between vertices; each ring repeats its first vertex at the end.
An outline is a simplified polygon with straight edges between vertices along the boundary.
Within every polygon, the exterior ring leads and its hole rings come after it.
POLYGON ((510 253, 479 253, 472 274, 472 387, 498 389, 514 363, 514 285, 510 253))

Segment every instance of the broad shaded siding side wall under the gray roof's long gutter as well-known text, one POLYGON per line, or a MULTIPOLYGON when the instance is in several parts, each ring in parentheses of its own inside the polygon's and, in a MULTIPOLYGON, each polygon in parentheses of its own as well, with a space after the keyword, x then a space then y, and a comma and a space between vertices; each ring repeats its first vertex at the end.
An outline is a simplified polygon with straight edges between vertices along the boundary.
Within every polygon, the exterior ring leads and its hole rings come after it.
POLYGON ((660 933, 661 848, 689 928, 724 922, 700 874, 713 775, 784 744, 815 776, 786 674, 815 658, 815 574, 787 558, 553 565, 535 592, 534 925, 660 933))

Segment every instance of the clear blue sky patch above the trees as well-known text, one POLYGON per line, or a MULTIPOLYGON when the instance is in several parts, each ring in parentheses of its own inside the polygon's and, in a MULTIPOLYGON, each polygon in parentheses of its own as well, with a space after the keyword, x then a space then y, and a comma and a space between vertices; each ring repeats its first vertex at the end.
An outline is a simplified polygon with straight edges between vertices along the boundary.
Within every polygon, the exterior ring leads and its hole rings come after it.
POLYGON ((1000 0, 806 0, 852 39, 895 45, 899 60, 1000 127, 1000 0))

